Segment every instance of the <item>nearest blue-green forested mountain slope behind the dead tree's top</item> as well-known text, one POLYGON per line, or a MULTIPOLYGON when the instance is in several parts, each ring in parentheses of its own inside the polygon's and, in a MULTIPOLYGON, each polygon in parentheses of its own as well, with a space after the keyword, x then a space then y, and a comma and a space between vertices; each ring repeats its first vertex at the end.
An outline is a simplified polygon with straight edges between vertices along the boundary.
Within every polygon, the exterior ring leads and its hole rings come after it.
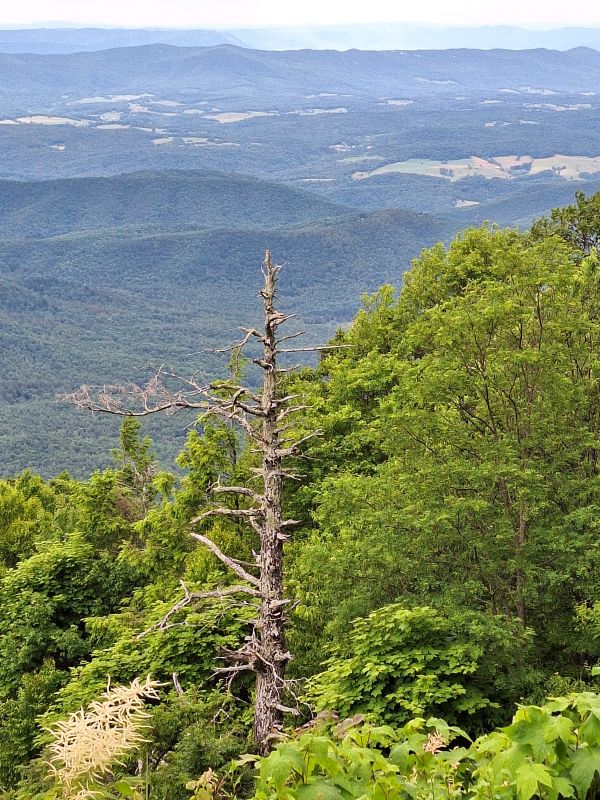
MULTIPOLYGON (((181 180, 185 183, 185 176, 169 173, 160 201, 171 202, 175 211, 187 197, 178 195, 181 180)), ((107 185, 119 201, 136 181, 158 186, 160 176, 121 176, 107 185)), ((256 195, 269 186, 255 183, 256 195)), ((90 182, 89 196, 97 185, 90 182)), ((51 182, 44 213, 52 205, 68 205, 74 186, 79 182, 51 182)), ((171 224, 139 223, 134 221, 134 203, 125 219, 128 224, 111 227, 108 223, 118 221, 118 215, 104 214, 93 229, 96 206, 89 201, 86 213, 72 220, 71 231, 40 238, 42 227, 58 229, 58 216, 36 228, 32 216, 23 212, 27 198, 43 188, 44 184, 24 184, 20 203, 5 210, 1 223, 4 474, 27 466, 46 474, 65 468, 84 473, 106 462, 115 443, 114 421, 57 406, 57 392, 83 382, 143 380, 161 363, 184 374, 192 369, 222 374, 225 362, 202 351, 233 341, 239 324, 258 321, 258 267, 266 247, 285 264, 282 305, 298 312, 298 325, 308 330, 308 341, 315 342, 327 340, 352 318, 362 292, 386 281, 397 284, 410 258, 449 232, 443 220, 427 215, 348 212, 308 193, 283 189, 306 206, 294 206, 292 220, 283 204, 277 226, 266 221, 259 225, 259 213, 253 229, 242 227, 239 217, 237 223, 219 227, 218 214, 212 227, 195 226, 189 221, 191 215, 182 226, 171 221, 178 219, 177 213, 169 218, 171 224), (284 211, 286 224, 282 224, 284 211), (15 227, 8 239, 11 225, 15 227), (23 238, 32 231, 37 238, 23 238)), ((154 212, 158 214, 161 207, 157 205, 154 212)), ((154 428, 163 458, 181 446, 191 421, 176 418, 165 423, 166 429, 162 423, 154 428)))

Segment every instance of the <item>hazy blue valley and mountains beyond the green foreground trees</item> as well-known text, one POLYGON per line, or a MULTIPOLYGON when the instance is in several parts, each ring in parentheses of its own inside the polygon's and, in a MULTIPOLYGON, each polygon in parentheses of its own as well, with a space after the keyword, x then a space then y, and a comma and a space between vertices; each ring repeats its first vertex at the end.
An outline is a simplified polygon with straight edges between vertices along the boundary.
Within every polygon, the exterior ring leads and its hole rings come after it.
MULTIPOLYGON (((1 32, 8 472, 103 463, 114 425, 74 423, 55 394, 191 368, 250 313, 267 246, 287 265, 284 300, 325 341, 422 247, 485 220, 525 226, 600 188, 598 50, 156 35, 1 32), (114 44, 127 46, 92 49, 114 44)), ((165 459, 185 436, 173 425, 165 459)))

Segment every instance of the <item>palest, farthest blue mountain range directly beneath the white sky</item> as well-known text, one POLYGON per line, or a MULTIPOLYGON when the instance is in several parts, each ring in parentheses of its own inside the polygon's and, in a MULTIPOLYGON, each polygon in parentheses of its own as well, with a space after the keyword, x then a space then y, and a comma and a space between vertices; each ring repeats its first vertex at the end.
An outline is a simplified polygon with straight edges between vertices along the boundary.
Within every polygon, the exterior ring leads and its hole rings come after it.
POLYGON ((171 44, 205 47, 237 44, 260 50, 445 50, 476 48, 600 50, 600 28, 531 30, 511 26, 445 27, 388 23, 309 27, 243 28, 239 30, 124 29, 124 28, 0 28, 0 52, 74 53, 171 44))

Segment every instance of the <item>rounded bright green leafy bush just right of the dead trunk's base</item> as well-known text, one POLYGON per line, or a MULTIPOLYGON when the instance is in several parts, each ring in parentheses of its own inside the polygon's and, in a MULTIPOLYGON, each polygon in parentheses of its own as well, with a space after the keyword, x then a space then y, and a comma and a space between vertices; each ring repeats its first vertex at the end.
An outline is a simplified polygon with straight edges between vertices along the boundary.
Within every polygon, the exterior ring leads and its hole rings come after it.
POLYGON ((518 697, 527 646, 519 626, 502 617, 384 606, 354 623, 307 696, 317 710, 378 723, 439 714, 481 726, 518 697))

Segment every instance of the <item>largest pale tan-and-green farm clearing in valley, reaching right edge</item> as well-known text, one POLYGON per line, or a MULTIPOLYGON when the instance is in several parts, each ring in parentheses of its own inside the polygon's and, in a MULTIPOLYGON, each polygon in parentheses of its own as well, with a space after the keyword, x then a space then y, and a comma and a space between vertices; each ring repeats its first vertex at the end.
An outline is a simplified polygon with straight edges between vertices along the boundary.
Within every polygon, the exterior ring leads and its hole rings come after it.
POLYGON ((509 180, 521 175, 539 175, 541 172, 552 172, 565 180, 577 180, 600 173, 600 156, 561 156, 548 158, 532 158, 531 156, 496 156, 485 159, 478 156, 461 158, 456 161, 431 161, 413 158, 409 161, 396 161, 385 164, 371 172, 354 172, 356 181, 372 178, 377 175, 394 173, 411 175, 429 175, 433 178, 445 178, 449 181, 460 181, 463 178, 500 178, 509 180))

